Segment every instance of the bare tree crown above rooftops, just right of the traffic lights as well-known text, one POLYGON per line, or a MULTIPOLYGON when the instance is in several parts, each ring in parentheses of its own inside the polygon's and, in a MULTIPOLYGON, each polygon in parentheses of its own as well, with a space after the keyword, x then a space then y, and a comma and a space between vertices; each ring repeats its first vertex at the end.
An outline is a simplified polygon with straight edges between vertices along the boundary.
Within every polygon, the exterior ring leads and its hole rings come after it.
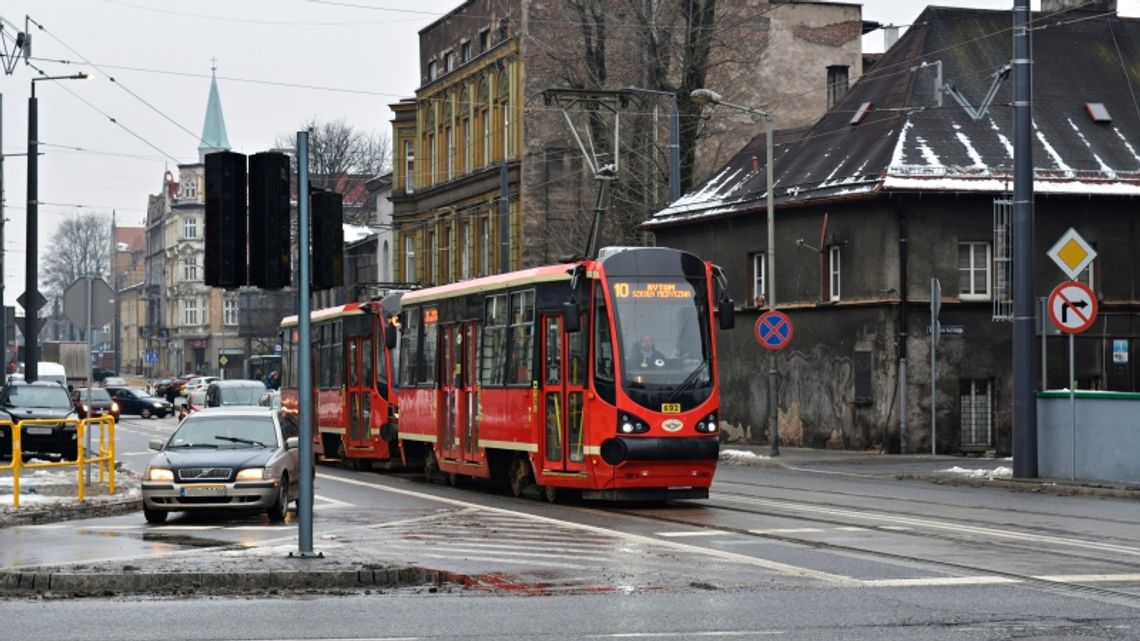
MULTIPOLYGON (((310 117, 301 124, 309 131, 309 175, 316 187, 332 188, 350 175, 378 176, 392 167, 392 145, 386 133, 353 128, 343 117, 329 121, 310 117)), ((293 148, 296 137, 283 133, 275 145, 293 148)))

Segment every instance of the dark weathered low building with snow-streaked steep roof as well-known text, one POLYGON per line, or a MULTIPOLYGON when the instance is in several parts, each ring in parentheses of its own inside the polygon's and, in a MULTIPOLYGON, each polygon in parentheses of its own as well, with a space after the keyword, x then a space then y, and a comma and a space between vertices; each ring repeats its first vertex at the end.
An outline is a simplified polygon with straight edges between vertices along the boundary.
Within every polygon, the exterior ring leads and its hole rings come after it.
MULTIPOLYGON (((1033 295, 1068 279, 1047 254, 1075 229, 1098 252, 1078 278, 1100 307, 1075 339, 1076 384, 1137 391, 1140 21, 1084 5, 1032 17, 1050 25, 1033 33, 1033 295)), ((929 7, 834 109, 779 136, 771 248, 763 133, 646 224, 728 276, 736 328, 719 354, 733 438, 767 443, 779 427, 797 446, 1011 452, 1010 21, 929 7), (775 390, 751 331, 773 282, 795 326, 775 390)), ((1041 326, 1035 380, 1068 387, 1067 343, 1041 326)))

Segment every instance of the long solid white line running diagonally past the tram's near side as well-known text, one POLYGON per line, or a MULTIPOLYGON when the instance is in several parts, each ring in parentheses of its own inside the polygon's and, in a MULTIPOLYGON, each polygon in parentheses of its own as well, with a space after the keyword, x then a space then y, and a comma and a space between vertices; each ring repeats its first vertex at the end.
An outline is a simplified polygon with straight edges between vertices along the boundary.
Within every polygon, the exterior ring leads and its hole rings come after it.
POLYGON ((858 585, 858 579, 855 579, 855 578, 849 577, 849 576, 844 576, 844 575, 838 575, 838 574, 831 574, 831 573, 825 573, 825 571, 820 571, 820 570, 813 570, 811 568, 804 568, 804 567, 799 567, 799 566, 791 566, 791 565, 781 563, 781 562, 777 562, 777 561, 768 561, 766 559, 758 559, 756 557, 749 557, 747 554, 739 554, 739 553, 735 553, 735 552, 727 552, 727 551, 724 551, 724 550, 711 550, 711 549, 706 549, 706 547, 698 547, 695 545, 687 545, 687 544, 684 544, 684 543, 681 543, 681 542, 676 542, 676 541, 661 539, 659 537, 644 536, 644 535, 640 535, 640 534, 629 534, 629 533, 624 533, 624 532, 616 530, 616 529, 606 529, 606 528, 598 527, 598 526, 588 526, 588 525, 581 525, 581 524, 571 524, 571 522, 562 521, 562 520, 559 520, 559 519, 552 519, 552 518, 548 518, 548 517, 539 517, 537 514, 527 514, 527 513, 523 513, 523 512, 514 512, 512 510, 506 510, 506 509, 503 509, 503 508, 489 508, 489 506, 486 506, 486 505, 479 505, 479 504, 469 503, 466 501, 459 501, 457 498, 446 498, 446 497, 442 497, 442 496, 434 496, 434 495, 431 495, 431 494, 425 494, 423 492, 415 492, 415 490, 410 490, 410 489, 402 489, 402 488, 398 488, 398 487, 385 486, 385 485, 382 485, 382 484, 378 484, 378 482, 367 482, 367 481, 357 480, 357 479, 339 478, 339 477, 332 477, 332 476, 325 476, 325 474, 317 474, 317 477, 318 478, 325 478, 325 479, 328 479, 328 480, 332 480, 332 481, 344 482, 344 484, 349 484, 349 485, 357 485, 357 486, 360 486, 360 487, 369 487, 369 488, 373 488, 373 489, 377 489, 377 490, 381 490, 381 492, 388 492, 388 493, 391 493, 391 494, 399 494, 399 495, 402 495, 402 496, 412 496, 412 497, 420 498, 420 500, 423 500, 423 501, 434 501, 437 503, 443 503, 446 505, 455 505, 455 506, 459 506, 459 508, 475 508, 475 509, 478 509, 478 510, 480 510, 482 512, 491 513, 491 514, 514 514, 514 516, 518 516, 519 518, 523 518, 523 519, 536 521, 536 522, 548 524, 548 525, 556 525, 556 526, 561 526, 561 527, 564 527, 564 528, 579 529, 579 530, 583 530, 583 532, 591 532, 591 533, 594 533, 594 534, 605 534, 605 535, 609 535, 609 536, 616 536, 618 538, 624 538, 626 541, 633 541, 633 542, 642 543, 644 545, 658 546, 658 547, 669 547, 669 549, 678 550, 678 551, 683 551, 683 552, 690 552, 690 553, 700 554, 700 555, 705 555, 705 557, 711 557, 711 558, 715 558, 715 559, 718 559, 718 560, 722 560, 722 561, 726 561, 726 562, 740 563, 740 565, 743 565, 743 566, 752 566, 752 567, 756 567, 756 568, 762 568, 762 569, 771 570, 771 571, 783 574, 783 575, 788 575, 788 576, 797 576, 797 577, 803 577, 803 578, 814 578, 816 581, 822 581, 822 582, 831 583, 831 584, 834 584, 834 585, 845 585, 845 586, 856 586, 856 585, 858 585))

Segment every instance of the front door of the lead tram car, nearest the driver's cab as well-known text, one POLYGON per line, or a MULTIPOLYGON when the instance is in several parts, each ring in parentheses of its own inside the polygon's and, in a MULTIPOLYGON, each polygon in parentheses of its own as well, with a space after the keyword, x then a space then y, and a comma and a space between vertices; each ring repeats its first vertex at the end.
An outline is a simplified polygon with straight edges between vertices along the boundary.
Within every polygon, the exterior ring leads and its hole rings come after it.
POLYGON ((543 469, 585 469, 583 398, 586 388, 585 332, 568 334, 561 315, 543 317, 543 469))

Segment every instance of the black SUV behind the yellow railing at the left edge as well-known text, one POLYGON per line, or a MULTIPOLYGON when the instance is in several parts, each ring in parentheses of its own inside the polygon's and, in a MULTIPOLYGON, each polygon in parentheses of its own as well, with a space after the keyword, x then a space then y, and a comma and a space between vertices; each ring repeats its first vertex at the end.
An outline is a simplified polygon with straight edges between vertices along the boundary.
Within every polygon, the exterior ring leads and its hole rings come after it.
MULTIPOLYGON (((0 390, 0 421, 60 419, 58 423, 25 425, 21 438, 21 449, 25 454, 74 461, 79 454, 75 423, 63 420, 76 417, 71 395, 59 383, 13 381, 0 390)), ((0 456, 11 457, 11 430, 10 425, 0 424, 0 456)))

